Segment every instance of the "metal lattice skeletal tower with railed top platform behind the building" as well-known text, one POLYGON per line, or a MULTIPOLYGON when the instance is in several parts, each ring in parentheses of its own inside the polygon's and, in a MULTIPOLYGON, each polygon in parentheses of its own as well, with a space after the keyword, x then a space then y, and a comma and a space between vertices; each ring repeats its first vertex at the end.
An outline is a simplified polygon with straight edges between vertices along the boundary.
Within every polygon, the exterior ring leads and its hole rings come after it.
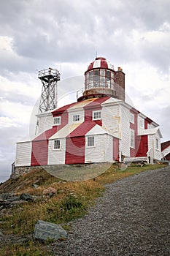
POLYGON ((60 73, 57 69, 43 69, 39 71, 38 78, 42 81, 42 95, 39 103, 39 113, 53 110, 57 107, 57 82, 60 73))

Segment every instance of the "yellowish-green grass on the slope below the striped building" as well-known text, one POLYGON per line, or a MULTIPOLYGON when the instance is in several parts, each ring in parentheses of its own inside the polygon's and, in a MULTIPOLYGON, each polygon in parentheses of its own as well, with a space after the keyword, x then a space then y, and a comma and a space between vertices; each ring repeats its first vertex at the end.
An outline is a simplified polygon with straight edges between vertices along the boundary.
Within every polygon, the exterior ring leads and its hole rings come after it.
MULTIPOLYGON (((0 186, 0 192, 15 191, 36 195, 34 202, 25 203, 22 206, 12 208, 0 219, 0 229, 6 235, 15 236, 34 233, 34 226, 39 219, 47 222, 64 225, 69 228, 67 222, 77 219, 88 213, 88 208, 93 205, 95 199, 104 192, 104 184, 109 184, 121 178, 125 178, 142 171, 157 169, 165 165, 131 165, 123 170, 120 165, 112 165, 107 171, 88 181, 60 181, 58 178, 46 173, 45 170, 34 170, 16 181, 7 181, 0 186), (34 188, 32 184, 39 184, 34 188), (56 189, 55 197, 42 197, 42 192, 47 187, 56 189)), ((28 244, 2 246, 0 256, 4 255, 49 255, 46 246, 29 241, 28 244)))

